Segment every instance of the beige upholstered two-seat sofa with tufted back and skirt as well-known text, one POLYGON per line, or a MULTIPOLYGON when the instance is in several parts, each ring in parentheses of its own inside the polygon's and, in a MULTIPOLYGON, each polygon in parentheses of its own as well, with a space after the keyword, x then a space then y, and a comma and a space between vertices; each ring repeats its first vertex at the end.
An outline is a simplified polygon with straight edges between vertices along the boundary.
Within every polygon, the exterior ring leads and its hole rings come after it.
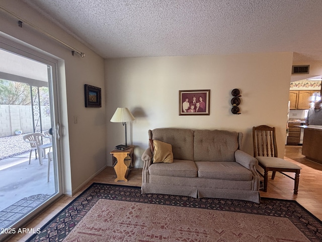
POLYGON ((165 128, 149 130, 148 136, 172 145, 173 163, 153 163, 147 148, 142 154, 142 194, 260 202, 258 161, 239 150, 242 133, 165 128))

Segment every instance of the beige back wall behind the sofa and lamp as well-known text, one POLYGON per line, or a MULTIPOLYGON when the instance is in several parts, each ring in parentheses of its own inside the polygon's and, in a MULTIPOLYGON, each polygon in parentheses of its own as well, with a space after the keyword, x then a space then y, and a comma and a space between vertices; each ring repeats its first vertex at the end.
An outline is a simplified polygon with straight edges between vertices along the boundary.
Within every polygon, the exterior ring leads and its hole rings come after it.
MULTIPOLYGON (((252 127, 277 128, 283 157, 292 53, 173 56, 105 61, 107 147, 124 143, 124 127, 110 123, 117 107, 136 120, 128 125, 128 143, 136 146, 136 164, 155 128, 220 129, 244 133, 243 150, 253 154, 252 127), (231 113, 231 90, 241 91, 241 114, 231 113), (210 89, 210 115, 180 116, 179 90, 210 89)), ((111 158, 108 159, 111 165, 111 158)))

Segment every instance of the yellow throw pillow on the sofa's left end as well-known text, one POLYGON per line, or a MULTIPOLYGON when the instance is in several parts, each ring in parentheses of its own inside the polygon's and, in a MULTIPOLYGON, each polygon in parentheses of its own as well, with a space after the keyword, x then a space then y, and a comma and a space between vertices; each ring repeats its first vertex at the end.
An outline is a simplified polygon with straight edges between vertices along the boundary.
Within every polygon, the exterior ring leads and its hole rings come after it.
POLYGON ((153 163, 173 163, 172 145, 162 141, 153 140, 153 163))

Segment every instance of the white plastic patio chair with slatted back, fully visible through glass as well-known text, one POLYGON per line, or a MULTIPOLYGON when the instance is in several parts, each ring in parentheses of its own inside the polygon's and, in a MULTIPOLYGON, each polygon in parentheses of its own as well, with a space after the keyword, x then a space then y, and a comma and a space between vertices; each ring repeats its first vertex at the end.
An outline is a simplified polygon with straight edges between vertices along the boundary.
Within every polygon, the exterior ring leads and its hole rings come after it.
POLYGON ((30 149, 30 154, 29 154, 29 164, 30 164, 30 160, 31 160, 31 153, 34 150, 36 159, 37 159, 36 151, 38 151, 39 164, 42 165, 42 158, 46 158, 46 149, 51 148, 51 146, 52 146, 51 139, 41 133, 31 133, 28 135, 24 135, 23 139, 24 139, 24 141, 30 143, 31 149, 30 149), (43 139, 49 139, 50 143, 43 144, 43 139))

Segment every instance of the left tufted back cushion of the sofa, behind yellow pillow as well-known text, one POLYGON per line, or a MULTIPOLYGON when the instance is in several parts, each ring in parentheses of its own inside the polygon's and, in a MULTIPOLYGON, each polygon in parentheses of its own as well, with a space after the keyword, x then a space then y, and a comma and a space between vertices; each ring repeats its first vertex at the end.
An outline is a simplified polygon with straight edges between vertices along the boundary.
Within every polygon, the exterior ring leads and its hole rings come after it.
POLYGON ((172 145, 174 159, 193 160, 193 130, 164 128, 148 131, 149 139, 172 145))

